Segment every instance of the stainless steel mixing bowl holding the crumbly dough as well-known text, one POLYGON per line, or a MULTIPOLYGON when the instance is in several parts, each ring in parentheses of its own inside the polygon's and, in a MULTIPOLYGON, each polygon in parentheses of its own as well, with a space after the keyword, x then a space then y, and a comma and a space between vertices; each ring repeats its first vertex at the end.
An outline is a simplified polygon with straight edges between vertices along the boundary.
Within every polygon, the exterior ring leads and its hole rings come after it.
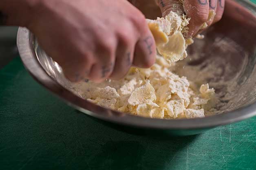
MULTIPOLYGON (((225 68, 228 63, 236 68, 233 73, 239 71, 234 82, 240 85, 239 89, 229 94, 234 96, 231 103, 233 109, 227 108, 227 113, 206 118, 162 120, 112 111, 76 96, 59 66, 40 48, 34 35, 26 28, 19 28, 17 37, 20 57, 29 73, 68 105, 118 129, 158 135, 193 135, 256 115, 256 6, 247 0, 228 1, 221 22, 208 29, 205 39, 201 41, 204 41, 204 46, 197 49, 201 50, 200 58, 191 61, 190 65, 216 57, 216 60, 225 59, 219 61, 222 67, 225 68)), ((192 45, 190 54, 197 45, 192 45)), ((222 74, 224 78, 232 76, 230 73, 227 75, 225 70, 222 74)))

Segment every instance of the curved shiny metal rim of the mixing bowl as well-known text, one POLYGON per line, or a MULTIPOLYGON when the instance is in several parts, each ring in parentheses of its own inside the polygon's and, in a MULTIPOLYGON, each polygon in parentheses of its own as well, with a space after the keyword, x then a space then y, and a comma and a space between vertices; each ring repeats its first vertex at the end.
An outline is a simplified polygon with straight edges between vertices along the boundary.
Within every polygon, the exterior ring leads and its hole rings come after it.
MULTIPOLYGON (((256 11, 255 4, 252 4, 252 2, 248 0, 240 0, 240 2, 241 1, 248 3, 248 5, 252 6, 256 11)), ((256 116, 256 102, 219 115, 178 120, 144 118, 100 107, 76 96, 49 76, 38 61, 33 47, 33 40, 33 33, 27 28, 19 27, 17 46, 22 63, 31 76, 38 81, 38 83, 53 92, 53 94, 64 100, 66 104, 101 120, 148 129, 208 129, 256 116)))

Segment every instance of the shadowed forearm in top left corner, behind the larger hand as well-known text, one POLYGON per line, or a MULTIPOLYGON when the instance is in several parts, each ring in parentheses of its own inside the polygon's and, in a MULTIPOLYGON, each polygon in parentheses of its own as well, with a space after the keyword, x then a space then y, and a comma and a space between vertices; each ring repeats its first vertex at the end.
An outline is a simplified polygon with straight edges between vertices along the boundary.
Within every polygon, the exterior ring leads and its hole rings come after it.
POLYGON ((0 25, 27 26, 40 0, 1 0, 0 25))

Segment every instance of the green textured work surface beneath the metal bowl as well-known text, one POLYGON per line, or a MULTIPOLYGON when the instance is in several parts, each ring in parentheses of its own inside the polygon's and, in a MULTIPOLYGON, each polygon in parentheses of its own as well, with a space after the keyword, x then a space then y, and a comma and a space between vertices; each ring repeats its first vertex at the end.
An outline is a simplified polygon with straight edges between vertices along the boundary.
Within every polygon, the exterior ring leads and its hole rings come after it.
POLYGON ((256 117, 189 137, 138 136, 75 111, 26 72, 0 70, 2 170, 256 168, 256 117))

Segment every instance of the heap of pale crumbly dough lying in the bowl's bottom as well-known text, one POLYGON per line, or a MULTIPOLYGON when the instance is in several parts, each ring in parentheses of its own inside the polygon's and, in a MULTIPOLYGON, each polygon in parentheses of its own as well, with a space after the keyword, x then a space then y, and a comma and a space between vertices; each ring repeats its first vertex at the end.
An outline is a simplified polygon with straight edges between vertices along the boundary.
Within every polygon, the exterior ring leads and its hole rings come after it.
MULTIPOLYGON (((79 95, 97 105, 150 118, 198 118, 212 107, 214 89, 196 87, 170 71, 161 56, 148 69, 131 68, 119 81, 76 83, 79 95), (82 93, 81 93, 82 92, 82 93)), ((75 92, 78 92, 75 90, 75 92)))

